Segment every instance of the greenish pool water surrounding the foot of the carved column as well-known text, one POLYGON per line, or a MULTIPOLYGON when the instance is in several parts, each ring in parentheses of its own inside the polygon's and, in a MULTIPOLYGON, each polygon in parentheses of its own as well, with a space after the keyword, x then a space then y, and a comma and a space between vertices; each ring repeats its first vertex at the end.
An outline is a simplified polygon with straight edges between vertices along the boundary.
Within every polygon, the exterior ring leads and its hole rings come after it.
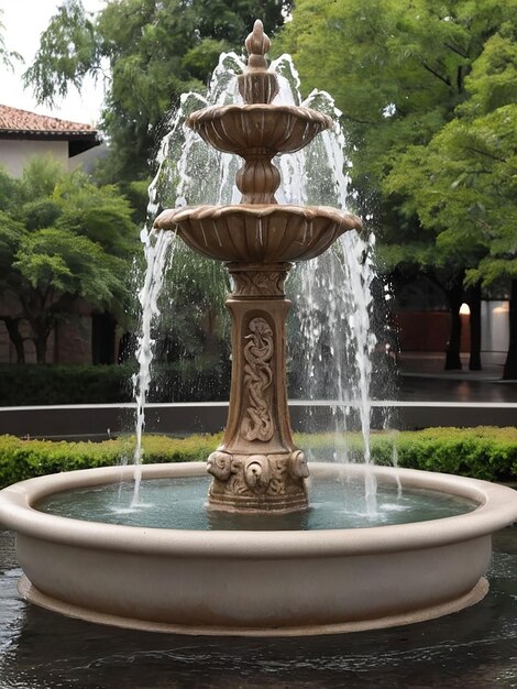
POLYGON ((287 515, 232 514, 205 508, 210 477, 147 479, 132 506, 133 483, 55 493, 37 503, 51 514, 89 522, 153 528, 201 531, 310 531, 407 524, 455 516, 476 507, 471 501, 436 491, 380 484, 377 510, 367 510, 362 480, 319 480, 310 486, 310 508, 287 515))

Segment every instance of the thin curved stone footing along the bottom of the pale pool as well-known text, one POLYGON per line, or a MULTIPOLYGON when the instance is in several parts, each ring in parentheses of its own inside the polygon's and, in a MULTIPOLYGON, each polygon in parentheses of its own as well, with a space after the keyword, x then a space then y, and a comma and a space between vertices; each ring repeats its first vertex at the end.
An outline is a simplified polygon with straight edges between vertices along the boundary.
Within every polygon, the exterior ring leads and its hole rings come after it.
POLYGON ((318 636, 324 634, 345 634, 352 632, 366 632, 369 630, 382 630, 386 627, 403 626, 406 624, 415 624, 417 622, 427 622, 428 620, 435 620, 442 617, 443 615, 450 615, 454 612, 460 612, 465 608, 475 605, 482 601, 488 593, 488 582, 482 577, 475 587, 468 593, 460 595, 453 601, 446 603, 439 603, 437 605, 430 605, 428 608, 402 613, 387 615, 376 620, 360 620, 352 622, 343 622, 338 624, 315 624, 304 626, 272 626, 272 627, 243 627, 243 626, 213 626, 201 625, 190 626, 186 624, 167 624, 158 622, 147 622, 145 620, 122 617, 118 615, 110 615, 101 612, 95 612, 87 608, 80 608, 72 603, 65 603, 58 599, 52 598, 38 591, 31 581, 23 576, 18 584, 20 594, 31 603, 45 608, 52 612, 65 615, 67 617, 74 617, 76 620, 84 620, 85 622, 92 622, 94 624, 106 624, 109 626, 118 626, 128 630, 139 630, 141 632, 157 632, 168 634, 186 634, 189 636, 254 636, 254 637, 268 637, 268 636, 318 636))

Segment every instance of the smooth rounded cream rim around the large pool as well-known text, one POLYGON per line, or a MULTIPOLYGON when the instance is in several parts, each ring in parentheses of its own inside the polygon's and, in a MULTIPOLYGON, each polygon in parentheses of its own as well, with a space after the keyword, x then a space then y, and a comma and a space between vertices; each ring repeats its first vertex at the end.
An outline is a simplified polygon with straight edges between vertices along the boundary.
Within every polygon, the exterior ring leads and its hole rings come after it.
MULTIPOLYGON (((311 475, 336 478, 342 472, 360 477, 362 464, 310 464, 311 475)), ((210 531, 148 528, 86 522, 46 514, 32 505, 54 493, 131 480, 132 467, 84 469, 29 479, 0 491, 0 524, 21 534, 54 543, 77 540, 80 547, 124 553, 174 553, 185 557, 289 559, 378 554, 428 548, 488 535, 517 521, 517 493, 509 488, 436 472, 389 467, 372 468, 378 480, 466 497, 480 506, 470 513, 427 522, 318 531, 210 531)), ((205 462, 145 464, 142 478, 205 475, 205 462)), ((266 517, 264 517, 266 518, 266 517)))

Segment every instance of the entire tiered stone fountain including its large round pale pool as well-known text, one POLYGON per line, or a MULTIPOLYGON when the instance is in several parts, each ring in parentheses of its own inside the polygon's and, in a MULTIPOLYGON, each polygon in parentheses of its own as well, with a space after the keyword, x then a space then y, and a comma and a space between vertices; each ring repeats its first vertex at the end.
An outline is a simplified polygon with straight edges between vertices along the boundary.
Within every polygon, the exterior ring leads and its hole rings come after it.
MULTIPOLYGON (((244 158, 237 176, 241 203, 166 210, 155 222, 195 251, 223 261, 233 278, 230 411, 223 441, 208 458, 207 514, 216 522, 237 515, 241 526, 129 526, 38 508, 59 494, 75 502, 86 489, 131 481, 129 467, 32 479, 0 492, 0 523, 16 532, 25 572, 19 589, 66 615, 186 634, 336 633, 461 610, 487 591, 491 534, 517 518, 514 491, 446 474, 331 462, 314 463, 309 479, 305 455, 293 442, 284 282, 290 262, 317 256, 361 221, 334 208, 276 203, 279 173, 273 157, 305 146, 332 123, 315 110, 271 103, 277 85, 267 70, 261 22, 246 47, 248 70, 240 77, 244 105, 215 106, 188 120, 205 141, 244 158), (311 510, 309 480, 324 486, 344 478, 433 491, 470 507, 387 526, 287 526, 311 510)), ((169 480, 174 486, 205 471, 201 462, 147 464, 139 479, 169 480)))

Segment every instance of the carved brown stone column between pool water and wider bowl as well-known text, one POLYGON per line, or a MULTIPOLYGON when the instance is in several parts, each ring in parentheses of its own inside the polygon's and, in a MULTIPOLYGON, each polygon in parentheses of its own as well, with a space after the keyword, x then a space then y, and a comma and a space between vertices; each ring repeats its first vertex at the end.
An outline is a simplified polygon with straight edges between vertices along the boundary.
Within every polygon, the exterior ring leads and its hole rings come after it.
POLYGON ((209 505, 298 512, 308 505, 304 453, 293 442, 285 381, 284 282, 289 263, 229 264, 234 289, 232 386, 222 445, 208 459, 209 505))

